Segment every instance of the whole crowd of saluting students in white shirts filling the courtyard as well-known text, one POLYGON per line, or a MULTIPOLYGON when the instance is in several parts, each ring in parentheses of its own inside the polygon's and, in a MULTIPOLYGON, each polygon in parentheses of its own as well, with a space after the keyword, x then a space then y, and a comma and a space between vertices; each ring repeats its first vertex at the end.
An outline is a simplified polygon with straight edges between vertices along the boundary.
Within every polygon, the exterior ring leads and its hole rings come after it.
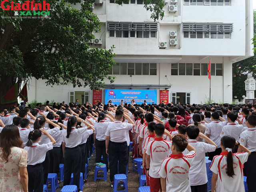
MULTIPOLYGON (((0 110, 0 132, 1 138, 7 137, 4 133, 8 129, 19 132, 23 144, 17 147, 27 153, 28 185, 22 183, 25 192, 42 192, 48 173, 59 174, 60 163, 64 163, 64 186, 70 184, 73 173, 74 184, 82 190, 80 172, 85 174, 93 144, 96 163, 106 164, 112 186, 118 166, 119 173, 126 174, 131 141, 131 158, 143 158, 150 192, 207 192, 205 156, 212 160, 212 191, 216 187, 217 192, 242 192, 245 175, 252 192, 256 191, 255 107, 156 105, 146 101, 140 105, 134 100, 119 106, 111 101, 81 105, 78 100, 70 106, 64 102, 24 109, 11 106, 0 110)), ((0 162, 8 162, 5 148, 0 140, 0 162)), ((0 164, 4 172, 3 167, 0 164)), ((0 177, 2 191, 6 188, 4 177, 0 177)))

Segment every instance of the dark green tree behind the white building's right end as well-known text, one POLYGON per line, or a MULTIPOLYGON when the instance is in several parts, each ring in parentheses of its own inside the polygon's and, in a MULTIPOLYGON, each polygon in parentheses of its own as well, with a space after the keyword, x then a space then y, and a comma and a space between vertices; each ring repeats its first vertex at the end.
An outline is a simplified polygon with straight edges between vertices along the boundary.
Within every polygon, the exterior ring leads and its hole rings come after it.
POLYGON ((237 96, 238 99, 242 99, 243 95, 246 95, 244 90, 244 81, 247 78, 248 72, 253 73, 254 79, 256 79, 256 11, 254 10, 254 56, 245 60, 233 63, 233 98, 237 96))

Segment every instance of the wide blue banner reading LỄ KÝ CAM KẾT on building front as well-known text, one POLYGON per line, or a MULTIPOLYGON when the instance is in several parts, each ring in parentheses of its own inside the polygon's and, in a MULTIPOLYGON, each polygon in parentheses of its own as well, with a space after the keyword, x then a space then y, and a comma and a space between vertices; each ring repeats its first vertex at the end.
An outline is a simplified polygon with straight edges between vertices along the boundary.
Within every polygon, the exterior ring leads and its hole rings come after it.
POLYGON ((132 99, 134 99, 137 104, 144 103, 144 100, 146 100, 147 104, 152 104, 152 102, 156 104, 157 90, 105 90, 105 104, 107 104, 109 100, 111 100, 114 105, 119 105, 121 100, 130 104, 132 99))

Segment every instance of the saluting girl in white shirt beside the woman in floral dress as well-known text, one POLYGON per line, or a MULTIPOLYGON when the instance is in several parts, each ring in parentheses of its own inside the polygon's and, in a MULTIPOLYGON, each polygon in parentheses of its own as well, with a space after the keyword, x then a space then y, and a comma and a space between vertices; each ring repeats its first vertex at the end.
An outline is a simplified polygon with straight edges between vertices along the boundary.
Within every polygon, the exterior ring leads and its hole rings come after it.
POLYGON ((53 144, 55 144, 54 138, 44 129, 34 130, 29 133, 28 142, 24 148, 28 152, 28 192, 43 191, 44 170, 42 162, 44 162, 46 152, 52 149, 53 144), (49 138, 49 143, 38 144, 41 141, 42 134, 49 138))

